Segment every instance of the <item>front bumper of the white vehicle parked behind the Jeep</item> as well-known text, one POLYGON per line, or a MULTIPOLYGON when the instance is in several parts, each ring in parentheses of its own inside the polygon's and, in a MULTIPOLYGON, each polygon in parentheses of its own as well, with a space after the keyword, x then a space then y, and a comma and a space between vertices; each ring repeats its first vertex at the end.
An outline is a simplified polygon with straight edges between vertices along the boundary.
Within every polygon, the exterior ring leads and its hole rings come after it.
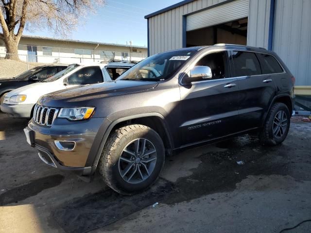
POLYGON ((35 104, 7 104, 1 103, 0 109, 4 113, 16 118, 31 118, 31 111, 35 104))

